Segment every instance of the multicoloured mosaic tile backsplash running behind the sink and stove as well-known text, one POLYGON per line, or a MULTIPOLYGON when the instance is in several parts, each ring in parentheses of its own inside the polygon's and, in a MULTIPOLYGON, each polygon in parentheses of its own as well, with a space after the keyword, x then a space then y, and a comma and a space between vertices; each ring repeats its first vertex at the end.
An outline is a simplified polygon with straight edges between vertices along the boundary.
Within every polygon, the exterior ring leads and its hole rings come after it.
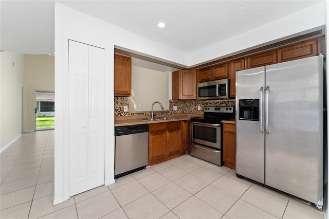
MULTIPOLYGON (((229 100, 169 100, 169 111, 158 114, 202 114, 205 106, 235 106, 235 99, 229 100), (177 106, 177 111, 174 111, 174 106, 177 106), (200 110, 198 111, 198 107, 200 110)), ((114 116, 140 116, 151 115, 151 112, 129 112, 129 98, 114 97, 114 116), (124 112, 124 106, 128 107, 128 112, 124 112)))

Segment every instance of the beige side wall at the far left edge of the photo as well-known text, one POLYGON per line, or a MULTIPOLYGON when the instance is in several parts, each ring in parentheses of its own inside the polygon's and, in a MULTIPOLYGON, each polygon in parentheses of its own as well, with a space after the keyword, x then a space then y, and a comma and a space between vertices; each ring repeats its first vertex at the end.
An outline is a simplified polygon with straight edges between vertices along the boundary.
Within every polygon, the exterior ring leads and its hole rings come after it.
POLYGON ((0 60, 0 149, 5 149, 22 133, 21 89, 25 85, 25 56, 3 51, 0 60))

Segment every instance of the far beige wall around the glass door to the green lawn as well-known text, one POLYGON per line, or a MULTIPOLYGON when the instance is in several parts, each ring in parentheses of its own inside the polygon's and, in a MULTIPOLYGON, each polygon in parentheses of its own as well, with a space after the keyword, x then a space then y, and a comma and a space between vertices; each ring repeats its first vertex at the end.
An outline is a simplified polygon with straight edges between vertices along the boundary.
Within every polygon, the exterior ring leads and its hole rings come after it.
MULTIPOLYGON (((35 130, 35 91, 55 91, 54 57, 44 55, 25 55, 25 131, 35 130)), ((56 101, 56 100, 55 100, 56 101)), ((56 104, 56 102, 55 102, 56 104)))

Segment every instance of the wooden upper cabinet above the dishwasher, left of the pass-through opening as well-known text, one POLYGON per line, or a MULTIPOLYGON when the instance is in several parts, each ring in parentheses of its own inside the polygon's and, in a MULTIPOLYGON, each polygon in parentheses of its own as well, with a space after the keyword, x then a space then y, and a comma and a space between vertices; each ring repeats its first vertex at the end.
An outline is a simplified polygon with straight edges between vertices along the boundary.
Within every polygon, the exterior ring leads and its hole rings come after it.
POLYGON ((114 96, 129 97, 132 93, 132 59, 114 54, 114 96))

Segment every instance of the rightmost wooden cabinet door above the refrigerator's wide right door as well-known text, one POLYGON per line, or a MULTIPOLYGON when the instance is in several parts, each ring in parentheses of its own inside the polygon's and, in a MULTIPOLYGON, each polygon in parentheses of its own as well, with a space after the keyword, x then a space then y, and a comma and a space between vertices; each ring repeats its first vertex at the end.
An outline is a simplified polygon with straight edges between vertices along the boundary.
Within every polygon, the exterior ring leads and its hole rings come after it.
POLYGON ((278 49, 278 62, 316 56, 318 54, 317 42, 317 39, 313 39, 278 49))

